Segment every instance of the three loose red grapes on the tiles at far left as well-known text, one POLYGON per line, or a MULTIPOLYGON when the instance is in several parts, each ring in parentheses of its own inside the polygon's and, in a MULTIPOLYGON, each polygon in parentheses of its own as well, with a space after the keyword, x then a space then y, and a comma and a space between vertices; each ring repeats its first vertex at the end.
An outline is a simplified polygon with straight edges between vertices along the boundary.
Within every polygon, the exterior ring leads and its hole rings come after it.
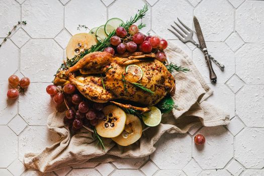
POLYGON ((19 97, 19 92, 24 91, 30 84, 28 77, 23 77, 19 80, 19 77, 15 74, 9 76, 9 85, 13 88, 8 90, 7 96, 9 99, 17 99, 19 97))

